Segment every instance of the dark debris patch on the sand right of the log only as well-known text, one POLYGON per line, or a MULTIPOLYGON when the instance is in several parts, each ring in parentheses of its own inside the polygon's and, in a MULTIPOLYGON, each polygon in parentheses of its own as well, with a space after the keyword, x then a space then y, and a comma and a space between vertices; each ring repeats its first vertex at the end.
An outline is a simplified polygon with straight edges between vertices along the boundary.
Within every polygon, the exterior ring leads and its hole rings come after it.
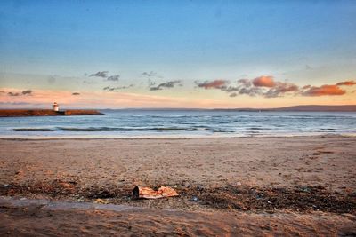
POLYGON ((295 186, 294 188, 253 186, 224 186, 206 189, 197 194, 203 204, 218 209, 295 211, 320 210, 334 213, 355 213, 353 194, 329 192, 322 186, 295 186))

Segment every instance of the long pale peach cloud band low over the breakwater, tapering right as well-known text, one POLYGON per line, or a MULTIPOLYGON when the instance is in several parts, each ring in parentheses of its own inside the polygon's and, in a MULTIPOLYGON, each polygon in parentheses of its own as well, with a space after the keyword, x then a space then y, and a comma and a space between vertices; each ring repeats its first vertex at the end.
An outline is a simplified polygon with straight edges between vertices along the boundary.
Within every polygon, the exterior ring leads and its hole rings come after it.
MULTIPOLYGON (((16 91, 14 88, 4 88, 4 91, 16 91)), ((53 101, 60 103, 61 107, 81 107, 81 108, 106 108, 106 107, 235 107, 236 101, 225 101, 219 99, 195 99, 195 98, 175 98, 170 96, 159 96, 157 94, 129 93, 124 91, 86 91, 80 96, 72 96, 73 91, 47 91, 36 90, 31 97, 18 96, 7 97, 3 95, 1 102, 30 103, 38 104, 37 107, 52 106, 53 101)), ((5 105, 3 107, 6 107, 5 105)), ((9 105, 8 107, 15 107, 9 105)), ((20 107, 20 106, 19 106, 20 107)))

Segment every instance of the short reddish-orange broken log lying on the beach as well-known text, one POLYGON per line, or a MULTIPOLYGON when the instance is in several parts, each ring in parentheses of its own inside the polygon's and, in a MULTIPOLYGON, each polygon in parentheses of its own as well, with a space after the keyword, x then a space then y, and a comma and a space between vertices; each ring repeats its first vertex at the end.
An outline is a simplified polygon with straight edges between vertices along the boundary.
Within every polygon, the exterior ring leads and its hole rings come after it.
POLYGON ((158 190, 153 190, 150 187, 135 186, 133 191, 133 196, 135 199, 158 199, 166 197, 179 196, 177 192, 172 187, 161 186, 158 190))

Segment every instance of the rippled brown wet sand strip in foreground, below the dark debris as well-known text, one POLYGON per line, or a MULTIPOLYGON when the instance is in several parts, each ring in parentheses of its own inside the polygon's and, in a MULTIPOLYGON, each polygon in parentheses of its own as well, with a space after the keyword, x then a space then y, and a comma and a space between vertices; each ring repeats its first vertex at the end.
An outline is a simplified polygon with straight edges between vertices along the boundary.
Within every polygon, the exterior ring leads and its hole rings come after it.
POLYGON ((0 197, 9 236, 354 236, 356 218, 323 212, 242 213, 128 208, 0 197))

